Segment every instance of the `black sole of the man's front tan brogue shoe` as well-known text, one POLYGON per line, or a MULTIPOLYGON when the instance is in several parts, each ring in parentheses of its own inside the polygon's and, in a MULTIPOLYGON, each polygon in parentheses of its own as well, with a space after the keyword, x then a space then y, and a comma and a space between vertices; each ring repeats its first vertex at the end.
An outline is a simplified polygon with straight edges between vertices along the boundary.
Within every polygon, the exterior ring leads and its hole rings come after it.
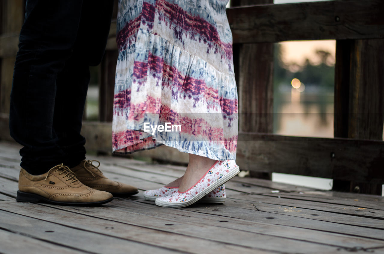
POLYGON ((43 196, 28 193, 23 191, 17 191, 17 202, 29 202, 29 203, 47 203, 52 205, 61 205, 61 206, 95 206, 95 205, 103 205, 112 201, 113 198, 109 198, 108 200, 97 201, 97 202, 61 202, 61 201, 53 201, 48 198, 44 198, 43 196))

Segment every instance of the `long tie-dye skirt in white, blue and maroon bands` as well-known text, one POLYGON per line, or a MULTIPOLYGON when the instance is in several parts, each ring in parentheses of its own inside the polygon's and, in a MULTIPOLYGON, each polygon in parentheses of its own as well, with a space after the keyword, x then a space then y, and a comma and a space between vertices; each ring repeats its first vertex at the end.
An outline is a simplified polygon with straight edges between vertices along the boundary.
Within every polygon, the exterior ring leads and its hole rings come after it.
POLYGON ((238 106, 227 2, 119 0, 114 153, 165 144, 235 159, 238 106))

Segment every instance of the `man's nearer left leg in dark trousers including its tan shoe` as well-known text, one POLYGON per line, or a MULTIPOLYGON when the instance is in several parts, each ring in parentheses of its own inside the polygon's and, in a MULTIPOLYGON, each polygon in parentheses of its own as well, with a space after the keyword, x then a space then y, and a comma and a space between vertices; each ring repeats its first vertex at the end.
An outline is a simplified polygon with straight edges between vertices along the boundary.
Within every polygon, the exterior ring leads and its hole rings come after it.
POLYGON ((65 152, 53 127, 56 79, 72 54, 82 5, 81 0, 26 3, 10 109, 11 135, 24 146, 17 201, 100 205, 113 200, 111 193, 83 185, 62 164, 65 152))

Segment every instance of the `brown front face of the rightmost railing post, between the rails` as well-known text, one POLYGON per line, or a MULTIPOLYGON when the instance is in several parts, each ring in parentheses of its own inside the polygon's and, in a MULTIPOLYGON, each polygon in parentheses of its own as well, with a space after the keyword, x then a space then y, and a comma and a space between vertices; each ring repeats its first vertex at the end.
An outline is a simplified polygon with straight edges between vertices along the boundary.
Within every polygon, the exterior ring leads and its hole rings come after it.
POLYGON ((383 70, 384 40, 354 41, 349 77, 349 138, 382 140, 383 70))

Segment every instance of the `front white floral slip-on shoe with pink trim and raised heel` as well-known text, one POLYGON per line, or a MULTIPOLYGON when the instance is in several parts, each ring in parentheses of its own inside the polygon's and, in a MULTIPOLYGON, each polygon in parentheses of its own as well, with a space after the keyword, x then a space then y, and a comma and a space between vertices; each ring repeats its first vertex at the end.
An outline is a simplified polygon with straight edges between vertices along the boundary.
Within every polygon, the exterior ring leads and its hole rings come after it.
POLYGON ((156 198, 156 205, 174 208, 192 205, 239 172, 239 167, 234 160, 217 161, 189 190, 176 191, 168 196, 156 198))

